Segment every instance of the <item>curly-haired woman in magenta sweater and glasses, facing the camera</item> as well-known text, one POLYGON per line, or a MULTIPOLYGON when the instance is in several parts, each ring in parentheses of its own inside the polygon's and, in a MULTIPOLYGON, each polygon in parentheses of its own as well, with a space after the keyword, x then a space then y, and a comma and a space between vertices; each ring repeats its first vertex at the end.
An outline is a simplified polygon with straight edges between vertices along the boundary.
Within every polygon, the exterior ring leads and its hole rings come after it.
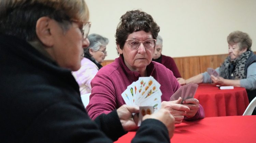
POLYGON ((175 123, 197 120, 204 117, 204 111, 195 98, 169 101, 180 84, 171 70, 162 64, 152 62, 159 26, 151 15, 140 10, 127 11, 116 30, 116 45, 119 58, 104 66, 91 81, 92 92, 86 107, 89 116, 95 119, 125 104, 121 94, 127 86, 139 77, 152 76, 160 83, 161 108, 166 108, 175 117, 175 123))

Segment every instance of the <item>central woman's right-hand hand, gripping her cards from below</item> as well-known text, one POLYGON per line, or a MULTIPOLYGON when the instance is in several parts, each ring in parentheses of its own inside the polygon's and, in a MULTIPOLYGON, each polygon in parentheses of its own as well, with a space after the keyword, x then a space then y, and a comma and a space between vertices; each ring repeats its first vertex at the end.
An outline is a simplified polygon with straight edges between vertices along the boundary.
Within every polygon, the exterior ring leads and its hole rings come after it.
POLYGON ((188 98, 182 102, 182 105, 187 106, 190 110, 186 113, 186 117, 194 117, 199 109, 199 101, 196 98, 188 98))

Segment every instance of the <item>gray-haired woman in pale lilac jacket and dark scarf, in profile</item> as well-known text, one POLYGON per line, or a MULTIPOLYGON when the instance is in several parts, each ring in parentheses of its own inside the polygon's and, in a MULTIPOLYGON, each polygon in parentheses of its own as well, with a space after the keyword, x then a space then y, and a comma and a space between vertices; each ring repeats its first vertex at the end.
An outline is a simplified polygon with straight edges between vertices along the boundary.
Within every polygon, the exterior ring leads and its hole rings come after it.
POLYGON ((91 92, 91 80, 94 78, 100 68, 101 63, 107 56, 106 45, 109 39, 99 34, 88 35, 90 45, 84 49, 84 58, 81 61, 81 68, 73 72, 80 87, 81 95, 91 92))

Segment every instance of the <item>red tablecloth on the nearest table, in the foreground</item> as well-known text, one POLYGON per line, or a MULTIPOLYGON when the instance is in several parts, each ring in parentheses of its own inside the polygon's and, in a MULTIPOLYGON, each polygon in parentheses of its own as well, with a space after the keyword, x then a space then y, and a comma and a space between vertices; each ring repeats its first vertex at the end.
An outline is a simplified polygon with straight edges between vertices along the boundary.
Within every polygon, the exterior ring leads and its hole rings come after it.
MULTIPOLYGON (((175 125, 171 143, 255 143, 256 115, 207 117, 175 125)), ((116 143, 129 143, 136 132, 128 132, 116 143)))

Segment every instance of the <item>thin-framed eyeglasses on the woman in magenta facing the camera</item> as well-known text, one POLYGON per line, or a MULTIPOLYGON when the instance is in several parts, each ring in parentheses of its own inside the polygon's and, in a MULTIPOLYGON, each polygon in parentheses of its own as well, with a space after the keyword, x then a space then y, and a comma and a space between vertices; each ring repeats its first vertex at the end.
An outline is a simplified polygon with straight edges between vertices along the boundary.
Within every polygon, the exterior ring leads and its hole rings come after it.
POLYGON ((130 49, 136 50, 139 48, 140 43, 143 43, 144 47, 148 50, 153 49, 156 45, 156 39, 147 39, 143 42, 136 39, 127 39, 127 45, 130 49))

